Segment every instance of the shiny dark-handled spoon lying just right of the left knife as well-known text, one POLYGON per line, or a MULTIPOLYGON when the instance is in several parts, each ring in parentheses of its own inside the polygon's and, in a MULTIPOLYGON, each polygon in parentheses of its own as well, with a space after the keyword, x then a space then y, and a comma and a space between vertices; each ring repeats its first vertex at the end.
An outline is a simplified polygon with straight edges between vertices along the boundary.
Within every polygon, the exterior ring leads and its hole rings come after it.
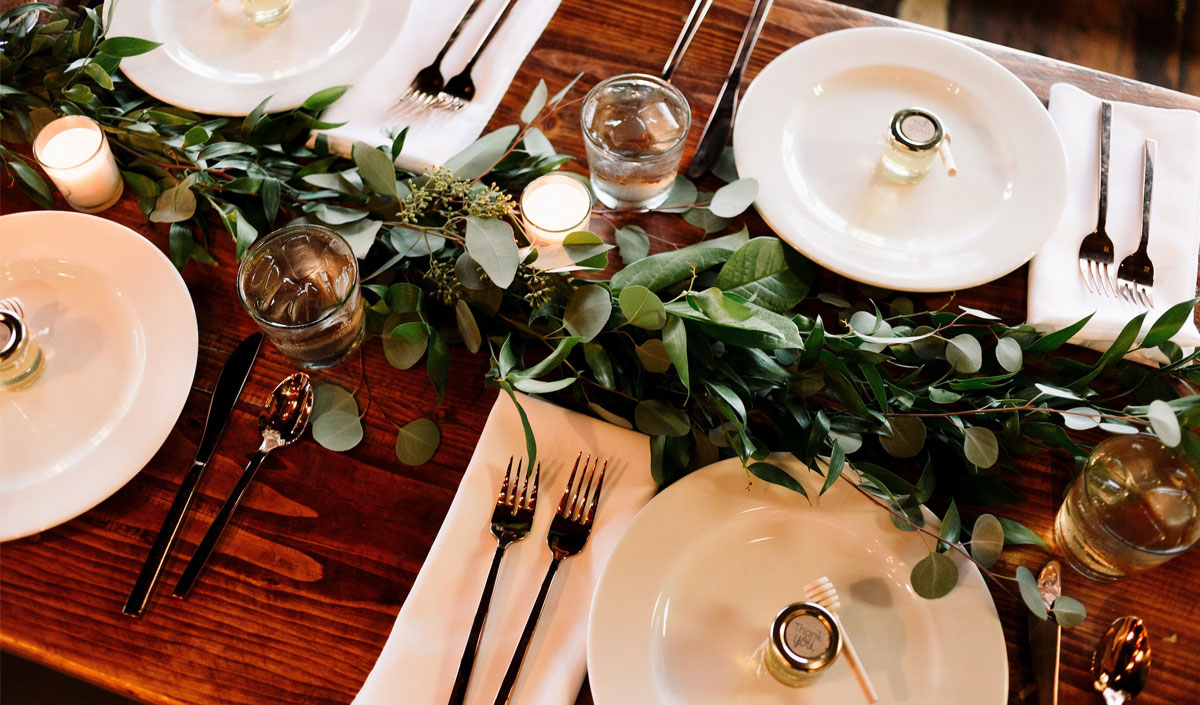
POLYGON ((241 477, 238 478, 238 486, 233 488, 229 499, 226 500, 217 518, 212 520, 204 535, 204 540, 200 541, 199 548, 187 561, 184 574, 175 584, 175 597, 185 598, 191 592, 192 585, 196 584, 196 579, 200 576, 209 556, 212 555, 212 549, 216 548, 217 541, 221 540, 221 535, 229 524, 233 511, 238 508, 241 495, 246 493, 246 488, 254 478, 258 466, 263 464, 271 451, 290 445, 299 439, 305 428, 308 427, 311 414, 312 382, 308 381, 308 375, 302 372, 281 381, 271 396, 263 402, 263 410, 258 415, 258 430, 263 434, 263 445, 258 446, 258 452, 242 470, 241 477))

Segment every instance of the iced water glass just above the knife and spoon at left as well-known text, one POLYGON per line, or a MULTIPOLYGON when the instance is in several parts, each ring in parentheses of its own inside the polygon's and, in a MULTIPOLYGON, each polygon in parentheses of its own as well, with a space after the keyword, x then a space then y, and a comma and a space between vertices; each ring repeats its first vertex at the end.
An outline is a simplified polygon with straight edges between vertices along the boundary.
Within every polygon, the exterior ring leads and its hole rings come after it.
POLYGON ((254 242, 238 295, 280 352, 307 369, 334 367, 366 335, 359 260, 329 228, 288 225, 254 242))

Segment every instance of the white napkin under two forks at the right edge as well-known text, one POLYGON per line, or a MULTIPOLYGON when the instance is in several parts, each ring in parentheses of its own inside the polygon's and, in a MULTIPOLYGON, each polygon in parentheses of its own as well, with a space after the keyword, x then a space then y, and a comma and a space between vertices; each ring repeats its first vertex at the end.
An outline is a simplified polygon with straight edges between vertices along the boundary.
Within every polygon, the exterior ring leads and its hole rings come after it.
MULTIPOLYGON (((1068 84, 1050 88, 1050 118, 1067 152, 1069 185, 1058 228, 1030 263, 1028 320, 1038 330, 1061 329, 1094 311, 1072 343, 1103 350, 1141 309, 1090 294, 1079 277, 1079 243, 1096 229, 1099 115, 1099 98, 1068 84)), ((1147 138, 1158 140, 1158 158, 1148 246, 1154 263, 1154 311, 1146 317, 1146 327, 1172 305, 1195 296, 1200 113, 1112 103, 1108 233, 1116 249, 1114 275, 1141 236, 1142 145, 1147 138)), ((1181 348, 1200 345, 1200 331, 1189 318, 1172 339, 1181 348)), ((1163 361, 1157 350, 1140 351, 1136 357, 1146 362, 1151 352, 1153 360, 1163 361)))

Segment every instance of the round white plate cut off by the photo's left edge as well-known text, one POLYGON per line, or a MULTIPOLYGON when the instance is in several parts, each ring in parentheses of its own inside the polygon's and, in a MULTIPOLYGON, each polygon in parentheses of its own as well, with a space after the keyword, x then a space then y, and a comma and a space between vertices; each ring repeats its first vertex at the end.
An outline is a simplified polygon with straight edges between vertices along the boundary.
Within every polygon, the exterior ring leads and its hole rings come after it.
POLYGON ((175 426, 196 312, 142 235, 62 211, 0 217, 0 297, 16 296, 42 376, 0 390, 0 541, 61 524, 128 482, 175 426))

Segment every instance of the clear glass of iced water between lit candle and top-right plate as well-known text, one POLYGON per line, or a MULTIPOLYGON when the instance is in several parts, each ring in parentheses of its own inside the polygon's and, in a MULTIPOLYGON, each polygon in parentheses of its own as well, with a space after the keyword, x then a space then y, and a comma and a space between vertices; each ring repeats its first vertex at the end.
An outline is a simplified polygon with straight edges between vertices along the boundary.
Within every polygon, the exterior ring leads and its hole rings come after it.
POLYGON ((644 73, 600 82, 580 110, 592 188, 608 207, 656 207, 671 193, 691 110, 677 88, 644 73))

